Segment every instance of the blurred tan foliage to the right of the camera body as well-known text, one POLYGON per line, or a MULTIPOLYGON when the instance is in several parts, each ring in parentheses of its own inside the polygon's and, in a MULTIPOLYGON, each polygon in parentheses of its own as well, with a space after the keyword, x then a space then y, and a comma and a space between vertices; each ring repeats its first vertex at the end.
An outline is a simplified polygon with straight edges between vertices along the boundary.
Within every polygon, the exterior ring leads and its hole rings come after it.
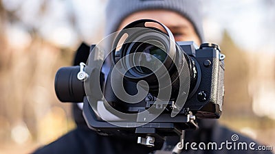
MULTIPOLYGON (((267 66, 269 63, 265 62, 265 56, 259 59, 261 53, 244 51, 236 46, 227 31, 223 33, 220 47, 221 52, 226 57, 225 97, 223 113, 219 121, 235 131, 241 131, 241 133, 254 138, 254 140, 274 145, 274 120, 266 116, 256 116, 252 110, 254 95, 259 92, 257 87, 263 86, 265 79, 271 78, 272 81, 275 79, 274 75, 270 77, 272 72, 268 71, 269 67, 267 66), (261 71, 256 71, 261 69, 265 73, 265 77, 261 75, 261 71), (254 85, 256 89, 250 90, 249 86, 251 84, 256 84, 254 85)), ((273 58, 272 61, 274 62, 274 55, 266 55, 266 57, 268 56, 273 58)), ((270 67, 274 68, 274 66, 270 67)))

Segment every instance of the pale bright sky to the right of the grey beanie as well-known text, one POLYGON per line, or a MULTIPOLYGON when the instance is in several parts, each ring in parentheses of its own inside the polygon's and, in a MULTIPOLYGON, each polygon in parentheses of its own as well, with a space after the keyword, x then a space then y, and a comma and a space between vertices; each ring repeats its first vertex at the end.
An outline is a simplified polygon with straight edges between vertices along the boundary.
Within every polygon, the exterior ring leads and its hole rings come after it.
POLYGON ((275 53, 274 0, 208 0, 204 5, 206 36, 219 40, 226 29, 240 47, 248 51, 275 53), (210 35, 214 34, 214 36, 210 35))

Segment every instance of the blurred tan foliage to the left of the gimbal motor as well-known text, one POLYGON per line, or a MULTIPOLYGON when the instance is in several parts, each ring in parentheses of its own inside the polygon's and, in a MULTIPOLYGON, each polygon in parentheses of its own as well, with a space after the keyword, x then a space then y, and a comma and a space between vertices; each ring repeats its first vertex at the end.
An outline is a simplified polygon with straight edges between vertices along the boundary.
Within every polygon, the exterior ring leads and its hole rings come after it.
POLYGON ((54 93, 55 73, 71 65, 74 51, 45 41, 34 27, 26 30, 30 44, 17 47, 9 42, 7 29, 19 18, 1 1, 0 16, 0 149, 50 143, 75 127, 71 105, 60 103, 54 93))

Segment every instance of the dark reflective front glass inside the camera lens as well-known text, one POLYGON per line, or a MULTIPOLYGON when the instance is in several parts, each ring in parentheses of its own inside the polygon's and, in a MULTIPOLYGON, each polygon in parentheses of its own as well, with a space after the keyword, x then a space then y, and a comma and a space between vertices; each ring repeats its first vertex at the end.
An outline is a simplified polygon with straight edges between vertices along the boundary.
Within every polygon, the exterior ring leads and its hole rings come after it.
POLYGON ((144 75, 152 73, 152 70, 159 69, 162 64, 158 61, 163 63, 167 57, 167 54, 163 49, 148 43, 142 43, 140 47, 137 48, 136 52, 140 54, 135 54, 133 57, 136 66, 135 70, 144 75), (152 66, 152 70, 144 66, 152 66))

